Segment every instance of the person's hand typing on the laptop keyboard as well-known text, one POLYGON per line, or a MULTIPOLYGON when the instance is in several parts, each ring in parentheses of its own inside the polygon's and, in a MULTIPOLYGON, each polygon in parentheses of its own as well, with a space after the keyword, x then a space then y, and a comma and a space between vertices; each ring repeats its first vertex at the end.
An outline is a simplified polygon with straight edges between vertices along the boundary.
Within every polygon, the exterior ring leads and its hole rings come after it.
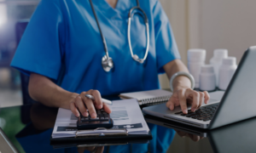
POLYGON ((195 112, 203 102, 207 104, 209 99, 207 91, 197 92, 191 88, 179 88, 174 91, 166 106, 173 111, 175 106, 180 105, 183 114, 188 114, 187 103, 192 104, 191 111, 195 112))

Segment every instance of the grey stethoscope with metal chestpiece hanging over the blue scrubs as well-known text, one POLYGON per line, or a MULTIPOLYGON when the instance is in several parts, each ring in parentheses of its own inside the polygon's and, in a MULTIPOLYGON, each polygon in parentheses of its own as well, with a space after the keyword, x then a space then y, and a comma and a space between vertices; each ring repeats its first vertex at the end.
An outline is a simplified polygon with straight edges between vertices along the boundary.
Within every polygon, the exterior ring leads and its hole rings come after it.
MULTIPOLYGON (((108 55, 108 47, 107 47, 107 43, 106 43, 106 40, 105 40, 105 37, 103 36, 102 34, 102 29, 101 29, 101 26, 99 24, 99 21, 97 19, 97 16, 96 16, 96 12, 95 12, 95 9, 93 7, 93 4, 90 0, 90 6, 92 8, 92 11, 93 11, 93 14, 95 16, 95 19, 96 19, 96 24, 99 28, 99 31, 101 33, 101 37, 102 37, 102 42, 103 42, 103 45, 104 45, 104 50, 105 50, 105 55, 102 57, 102 68, 104 71, 111 71, 111 69, 113 68, 113 59, 111 57, 109 57, 108 55)), ((128 31, 127 31, 127 37, 128 37, 128 43, 129 43, 129 48, 130 48, 130 52, 131 52, 131 58, 134 59, 135 61, 143 64, 143 62, 147 59, 147 56, 148 56, 148 48, 149 48, 149 28, 148 28, 148 18, 147 18, 147 15, 145 14, 145 12, 143 11, 142 8, 140 8, 139 6, 139 2, 137 0, 137 6, 136 7, 133 7, 130 9, 129 11, 129 14, 128 14, 128 31), (135 11, 137 10, 137 11, 135 11), (135 12, 134 12, 135 11, 135 12), (145 25, 146 25, 146 33, 147 33, 147 48, 146 48, 146 53, 143 57, 143 59, 139 59, 139 57, 137 56, 137 54, 133 54, 133 51, 132 51, 132 48, 131 48, 131 18, 133 17, 134 14, 140 14, 143 16, 143 20, 145 22, 145 25)))

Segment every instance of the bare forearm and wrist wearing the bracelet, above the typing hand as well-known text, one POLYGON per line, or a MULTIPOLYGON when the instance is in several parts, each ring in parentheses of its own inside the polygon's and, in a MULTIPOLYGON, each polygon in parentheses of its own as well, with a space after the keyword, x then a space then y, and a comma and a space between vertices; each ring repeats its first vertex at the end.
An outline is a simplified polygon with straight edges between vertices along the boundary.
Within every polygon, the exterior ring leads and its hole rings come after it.
MULTIPOLYGON (((171 79, 172 75, 177 73, 177 71, 185 71, 189 73, 188 68, 183 64, 180 59, 174 59, 164 65, 164 70, 166 71, 169 80, 171 79)), ((180 88, 191 88, 191 82, 188 77, 178 76, 173 80, 172 87, 174 89, 173 92, 180 88)))

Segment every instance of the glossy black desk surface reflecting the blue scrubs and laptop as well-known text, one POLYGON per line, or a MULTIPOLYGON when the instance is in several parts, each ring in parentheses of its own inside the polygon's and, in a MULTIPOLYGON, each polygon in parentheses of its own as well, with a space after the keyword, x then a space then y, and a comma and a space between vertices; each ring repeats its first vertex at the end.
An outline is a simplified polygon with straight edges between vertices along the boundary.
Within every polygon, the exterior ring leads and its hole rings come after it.
MULTIPOLYGON (((50 145, 57 109, 22 105, 0 109, 0 127, 20 152, 90 152, 94 147, 50 145), (57 149, 58 148, 58 149, 57 149)), ((153 139, 97 147, 101 152, 255 152, 256 118, 207 131, 145 116, 153 139), (147 141, 146 141, 147 142, 147 141), (246 150, 246 151, 245 151, 246 150)))

